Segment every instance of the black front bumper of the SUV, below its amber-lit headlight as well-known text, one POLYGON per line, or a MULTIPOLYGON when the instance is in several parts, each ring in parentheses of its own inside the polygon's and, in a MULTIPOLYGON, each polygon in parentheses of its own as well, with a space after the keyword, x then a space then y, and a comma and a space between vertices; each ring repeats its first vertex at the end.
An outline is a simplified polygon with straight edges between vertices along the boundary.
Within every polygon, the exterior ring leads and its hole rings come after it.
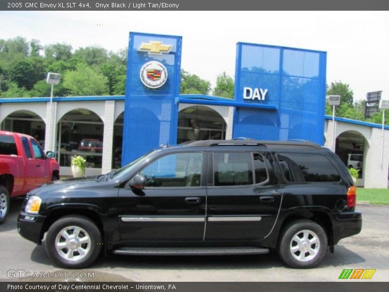
POLYGON ((42 227, 46 217, 20 211, 18 215, 18 233, 36 244, 42 242, 42 227))

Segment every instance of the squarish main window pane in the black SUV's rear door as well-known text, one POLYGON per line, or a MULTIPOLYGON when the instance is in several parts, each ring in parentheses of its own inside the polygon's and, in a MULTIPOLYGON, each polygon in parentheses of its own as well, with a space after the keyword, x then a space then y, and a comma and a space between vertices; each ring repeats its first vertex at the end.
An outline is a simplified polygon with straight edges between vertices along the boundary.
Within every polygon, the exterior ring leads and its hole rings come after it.
POLYGON ((215 186, 253 184, 250 153, 213 153, 215 186))

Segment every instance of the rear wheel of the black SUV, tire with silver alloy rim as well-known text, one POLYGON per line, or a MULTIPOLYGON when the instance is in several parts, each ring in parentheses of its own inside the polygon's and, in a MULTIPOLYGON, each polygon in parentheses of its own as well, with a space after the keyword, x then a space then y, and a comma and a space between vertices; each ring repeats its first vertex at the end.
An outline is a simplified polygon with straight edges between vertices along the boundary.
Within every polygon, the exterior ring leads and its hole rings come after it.
POLYGON ((327 245, 327 235, 318 223, 300 219, 283 228, 278 252, 281 259, 292 268, 312 268, 325 255, 327 245))

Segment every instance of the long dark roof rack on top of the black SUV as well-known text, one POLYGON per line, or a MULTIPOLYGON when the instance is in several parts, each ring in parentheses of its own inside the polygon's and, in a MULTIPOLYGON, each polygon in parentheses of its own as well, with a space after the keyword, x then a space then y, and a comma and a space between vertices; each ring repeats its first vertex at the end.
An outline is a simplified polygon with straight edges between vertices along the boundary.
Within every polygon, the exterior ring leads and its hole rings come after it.
POLYGON ((200 140, 184 142, 181 145, 197 146, 197 147, 210 147, 210 146, 262 146, 273 148, 286 148, 293 146, 299 149, 317 149, 323 148, 313 142, 303 141, 264 141, 264 140, 200 140))

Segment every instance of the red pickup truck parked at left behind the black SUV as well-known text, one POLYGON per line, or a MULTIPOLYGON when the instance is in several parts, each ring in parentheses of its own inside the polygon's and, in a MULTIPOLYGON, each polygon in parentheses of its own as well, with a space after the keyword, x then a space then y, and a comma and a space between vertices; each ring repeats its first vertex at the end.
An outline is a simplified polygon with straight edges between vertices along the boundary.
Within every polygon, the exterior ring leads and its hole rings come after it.
POLYGON ((52 151, 45 155, 31 136, 0 131, 0 224, 8 214, 10 197, 59 180, 59 165, 54 156, 52 151))

